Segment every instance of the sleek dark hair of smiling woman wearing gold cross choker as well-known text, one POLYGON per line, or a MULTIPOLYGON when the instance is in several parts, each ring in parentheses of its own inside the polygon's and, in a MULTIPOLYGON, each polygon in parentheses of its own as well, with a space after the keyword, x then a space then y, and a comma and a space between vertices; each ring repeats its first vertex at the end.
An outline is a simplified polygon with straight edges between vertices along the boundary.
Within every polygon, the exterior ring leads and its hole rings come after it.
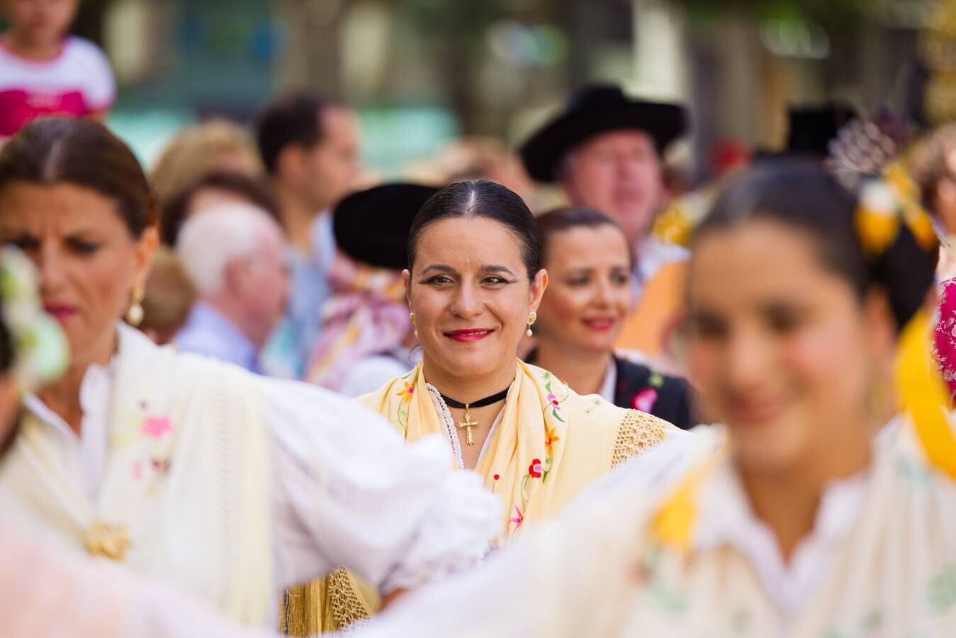
POLYGON ((489 180, 457 182, 442 188, 424 203, 408 231, 409 269, 415 264, 416 248, 425 229, 435 222, 457 217, 486 217, 507 227, 521 249, 528 278, 534 280, 541 263, 541 235, 534 215, 517 193, 489 180))

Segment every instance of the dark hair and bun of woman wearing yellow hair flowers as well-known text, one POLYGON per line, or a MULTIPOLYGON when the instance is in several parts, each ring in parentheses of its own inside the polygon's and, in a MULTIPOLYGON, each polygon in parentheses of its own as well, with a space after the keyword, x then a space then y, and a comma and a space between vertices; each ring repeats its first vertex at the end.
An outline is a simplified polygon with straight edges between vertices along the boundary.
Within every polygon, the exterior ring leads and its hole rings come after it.
POLYGON ((845 278, 860 298, 874 285, 885 291, 900 329, 923 305, 933 284, 937 252, 923 250, 901 220, 890 247, 869 257, 855 226, 857 206, 856 194, 820 163, 762 160, 723 188, 693 242, 753 219, 806 232, 815 241, 821 265, 845 278))

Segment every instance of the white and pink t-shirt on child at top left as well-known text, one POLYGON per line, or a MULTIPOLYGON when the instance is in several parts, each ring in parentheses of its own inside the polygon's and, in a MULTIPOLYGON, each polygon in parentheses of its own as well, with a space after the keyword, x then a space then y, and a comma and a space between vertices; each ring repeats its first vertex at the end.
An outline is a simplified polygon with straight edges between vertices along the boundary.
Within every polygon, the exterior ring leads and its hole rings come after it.
POLYGON ((59 55, 36 61, 0 41, 0 137, 41 116, 81 118, 108 109, 116 98, 110 63, 97 45, 69 36, 59 55))

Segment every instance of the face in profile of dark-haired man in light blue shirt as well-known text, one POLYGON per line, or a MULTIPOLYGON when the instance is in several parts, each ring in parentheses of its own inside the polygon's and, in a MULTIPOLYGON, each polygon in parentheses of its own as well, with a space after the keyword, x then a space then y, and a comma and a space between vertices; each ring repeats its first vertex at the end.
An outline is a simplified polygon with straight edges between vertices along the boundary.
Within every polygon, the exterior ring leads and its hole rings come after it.
POLYGON ((355 188, 359 175, 359 122, 352 111, 330 107, 319 114, 322 139, 304 154, 303 188, 316 210, 330 209, 355 188))

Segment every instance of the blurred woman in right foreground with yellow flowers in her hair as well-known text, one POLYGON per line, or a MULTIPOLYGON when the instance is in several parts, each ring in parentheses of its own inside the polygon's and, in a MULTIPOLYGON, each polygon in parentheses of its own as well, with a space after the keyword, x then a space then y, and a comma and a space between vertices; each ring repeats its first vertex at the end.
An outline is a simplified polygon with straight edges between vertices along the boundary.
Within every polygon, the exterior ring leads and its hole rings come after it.
POLYGON ((937 246, 900 191, 862 192, 767 162, 697 231, 688 363, 727 426, 675 490, 647 503, 625 466, 359 635, 953 635, 956 439, 923 310, 937 246))

